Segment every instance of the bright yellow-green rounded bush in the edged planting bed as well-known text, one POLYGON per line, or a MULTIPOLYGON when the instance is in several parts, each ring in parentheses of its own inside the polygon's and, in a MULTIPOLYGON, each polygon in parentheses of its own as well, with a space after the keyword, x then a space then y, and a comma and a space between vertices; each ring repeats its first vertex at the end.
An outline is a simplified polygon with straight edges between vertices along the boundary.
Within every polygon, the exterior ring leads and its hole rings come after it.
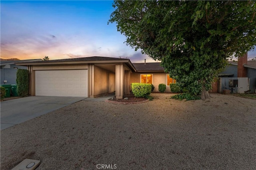
POLYGON ((151 93, 151 84, 145 83, 132 83, 132 93, 136 98, 143 97, 151 93))

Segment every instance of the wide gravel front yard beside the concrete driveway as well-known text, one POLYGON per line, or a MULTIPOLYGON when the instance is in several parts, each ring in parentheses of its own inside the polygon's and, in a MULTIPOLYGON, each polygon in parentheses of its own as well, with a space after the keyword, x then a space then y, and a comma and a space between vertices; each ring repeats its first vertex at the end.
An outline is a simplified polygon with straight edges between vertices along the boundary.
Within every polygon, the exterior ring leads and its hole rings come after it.
POLYGON ((256 169, 256 100, 80 101, 1 131, 1 170, 256 169))

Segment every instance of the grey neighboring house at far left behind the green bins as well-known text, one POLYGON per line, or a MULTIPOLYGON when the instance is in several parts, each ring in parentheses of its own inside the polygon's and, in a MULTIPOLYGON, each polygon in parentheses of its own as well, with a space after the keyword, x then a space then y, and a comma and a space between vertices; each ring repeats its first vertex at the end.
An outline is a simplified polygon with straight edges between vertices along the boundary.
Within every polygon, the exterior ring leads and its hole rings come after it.
POLYGON ((34 60, 16 60, 16 61, 1 61, 1 82, 0 84, 16 84, 16 72, 17 69, 27 69, 26 66, 19 66, 15 63, 20 62, 29 62, 29 61, 42 61, 41 59, 34 60))

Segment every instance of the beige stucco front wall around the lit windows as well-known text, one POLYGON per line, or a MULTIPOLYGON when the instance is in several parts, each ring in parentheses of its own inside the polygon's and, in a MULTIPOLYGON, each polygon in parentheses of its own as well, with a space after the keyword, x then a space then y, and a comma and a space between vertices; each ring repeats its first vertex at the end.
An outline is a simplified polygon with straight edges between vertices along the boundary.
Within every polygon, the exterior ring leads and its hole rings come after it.
MULTIPOLYGON (((140 83, 140 74, 153 74, 153 85, 155 86, 154 91, 156 92, 158 92, 159 84, 166 84, 165 72, 132 72, 130 83, 140 83)), ((166 92, 170 92, 169 86, 166 86, 166 92)))

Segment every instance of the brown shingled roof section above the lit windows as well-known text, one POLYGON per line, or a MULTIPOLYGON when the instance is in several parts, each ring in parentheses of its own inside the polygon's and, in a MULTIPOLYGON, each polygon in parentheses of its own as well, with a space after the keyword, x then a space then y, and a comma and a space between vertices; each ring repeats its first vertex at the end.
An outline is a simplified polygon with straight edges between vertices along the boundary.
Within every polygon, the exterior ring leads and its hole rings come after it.
POLYGON ((146 72, 146 71, 154 71, 154 72, 163 72, 164 67, 160 66, 160 63, 133 63, 137 72, 146 72))

